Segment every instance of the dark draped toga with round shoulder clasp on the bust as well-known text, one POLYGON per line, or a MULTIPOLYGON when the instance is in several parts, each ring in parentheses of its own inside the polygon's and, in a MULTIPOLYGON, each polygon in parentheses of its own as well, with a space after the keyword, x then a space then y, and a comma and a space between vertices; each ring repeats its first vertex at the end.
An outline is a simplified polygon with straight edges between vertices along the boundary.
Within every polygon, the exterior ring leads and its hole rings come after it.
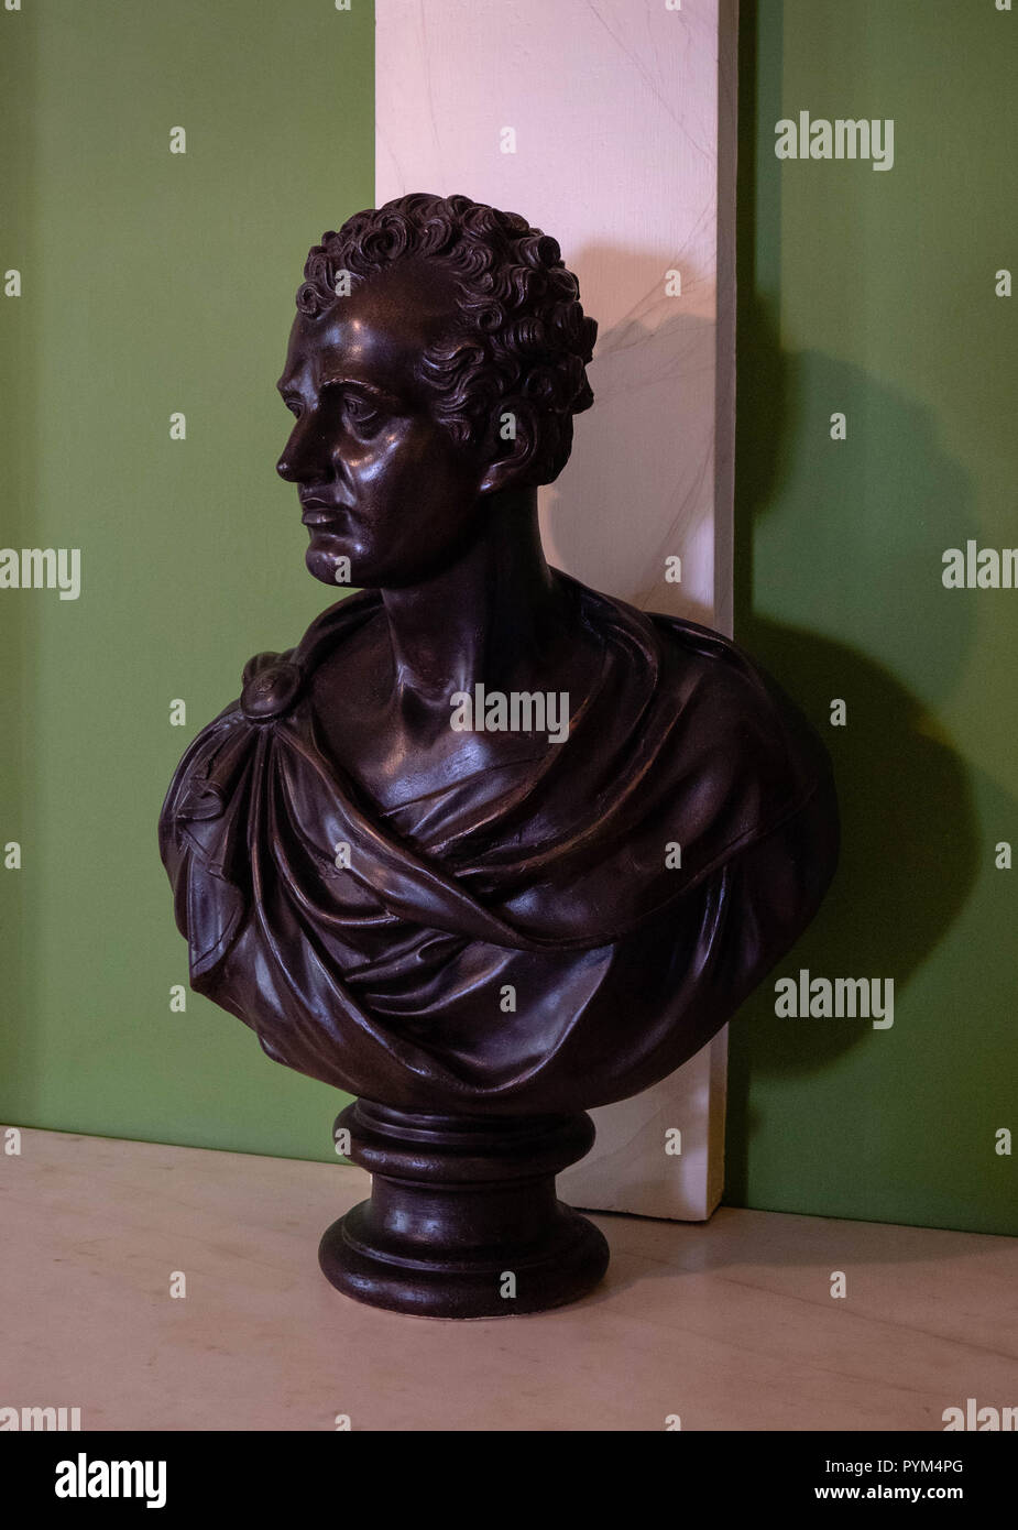
POLYGON ((191 987, 277 1062, 400 1109, 605 1105, 816 912, 837 809, 805 718, 718 633, 557 577, 602 666, 534 759, 383 809, 326 756, 309 679, 377 591, 251 659, 184 754, 159 848, 191 987))

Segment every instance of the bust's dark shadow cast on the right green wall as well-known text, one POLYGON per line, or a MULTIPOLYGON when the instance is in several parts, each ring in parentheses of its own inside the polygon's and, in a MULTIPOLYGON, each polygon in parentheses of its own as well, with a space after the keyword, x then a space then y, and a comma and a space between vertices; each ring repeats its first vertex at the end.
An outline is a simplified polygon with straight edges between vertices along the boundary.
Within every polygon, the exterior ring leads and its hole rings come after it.
POLYGON ((972 610, 940 598, 938 552, 975 536, 969 505, 967 474, 943 451, 929 410, 828 355, 782 352, 768 306, 747 301, 739 315, 735 635, 831 751, 842 858, 814 924, 732 1027, 730 1204, 749 1189, 749 1144, 759 1125, 753 1077, 813 1073, 871 1034, 870 1021, 778 1019, 776 976, 807 967, 828 978, 892 978, 897 999, 964 906, 981 854, 964 763, 925 702, 862 649, 768 617, 775 592, 753 581, 753 542, 767 537, 768 578, 784 568, 790 589, 822 571, 822 609, 840 614, 834 626, 857 610, 873 630, 866 603, 876 601, 882 630, 894 626, 896 652, 937 699, 963 661, 972 610), (830 444, 834 410, 853 422, 860 456, 840 487, 825 476, 821 500, 816 453, 850 445, 830 444), (833 698, 848 704, 843 728, 830 725, 833 698))

